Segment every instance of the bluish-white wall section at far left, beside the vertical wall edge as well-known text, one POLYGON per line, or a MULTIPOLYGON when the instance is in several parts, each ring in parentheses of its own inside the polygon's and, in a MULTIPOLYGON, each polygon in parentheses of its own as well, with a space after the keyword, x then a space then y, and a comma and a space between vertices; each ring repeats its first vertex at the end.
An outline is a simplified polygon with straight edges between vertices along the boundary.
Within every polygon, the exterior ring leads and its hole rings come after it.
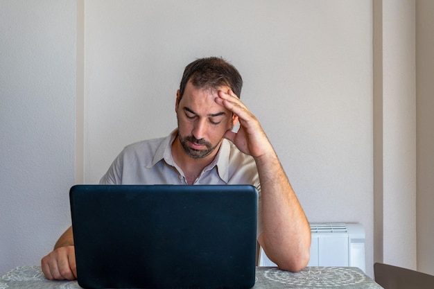
POLYGON ((0 275, 37 265, 69 222, 75 1, 0 1, 0 275))

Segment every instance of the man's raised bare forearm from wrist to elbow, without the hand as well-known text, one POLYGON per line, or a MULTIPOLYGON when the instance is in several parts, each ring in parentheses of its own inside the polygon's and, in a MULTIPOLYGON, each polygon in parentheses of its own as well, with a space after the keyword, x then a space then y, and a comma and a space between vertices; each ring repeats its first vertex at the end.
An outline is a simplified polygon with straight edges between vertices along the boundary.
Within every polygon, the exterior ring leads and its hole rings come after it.
POLYGON ((263 207, 263 234, 259 243, 281 269, 301 270, 309 262, 309 222, 274 150, 255 161, 263 207))

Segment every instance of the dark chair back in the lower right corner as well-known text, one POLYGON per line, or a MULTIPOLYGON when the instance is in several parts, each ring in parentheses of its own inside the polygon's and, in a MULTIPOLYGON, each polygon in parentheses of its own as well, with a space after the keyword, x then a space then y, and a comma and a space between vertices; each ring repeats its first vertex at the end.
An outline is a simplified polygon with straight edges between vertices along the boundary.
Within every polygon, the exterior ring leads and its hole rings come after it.
POLYGON ((376 283, 384 289, 433 289, 434 276, 383 263, 374 264, 376 283))

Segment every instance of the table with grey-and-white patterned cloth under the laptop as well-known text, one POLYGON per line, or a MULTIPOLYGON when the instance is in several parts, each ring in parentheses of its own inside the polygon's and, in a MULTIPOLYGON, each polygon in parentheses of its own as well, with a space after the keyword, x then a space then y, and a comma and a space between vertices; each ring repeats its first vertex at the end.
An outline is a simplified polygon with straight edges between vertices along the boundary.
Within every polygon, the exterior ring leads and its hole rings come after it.
MULTIPOLYGON (((24 266, 10 270, 0 278, 0 289, 53 288, 79 289, 77 281, 49 281, 40 266, 24 266)), ((380 289, 362 270, 349 267, 307 267, 291 273, 276 267, 257 267, 254 289, 333 288, 380 289)))

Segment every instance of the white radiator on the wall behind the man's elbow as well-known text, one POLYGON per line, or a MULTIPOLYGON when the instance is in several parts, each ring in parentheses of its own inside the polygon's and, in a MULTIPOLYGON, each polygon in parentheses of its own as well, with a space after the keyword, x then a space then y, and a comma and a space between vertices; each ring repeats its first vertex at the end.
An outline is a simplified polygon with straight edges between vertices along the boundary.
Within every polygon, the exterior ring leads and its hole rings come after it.
MULTIPOLYGON (((361 224, 311 224, 308 266, 358 267, 365 272, 365 229, 361 224)), ((259 266, 276 266, 261 248, 259 266)))

